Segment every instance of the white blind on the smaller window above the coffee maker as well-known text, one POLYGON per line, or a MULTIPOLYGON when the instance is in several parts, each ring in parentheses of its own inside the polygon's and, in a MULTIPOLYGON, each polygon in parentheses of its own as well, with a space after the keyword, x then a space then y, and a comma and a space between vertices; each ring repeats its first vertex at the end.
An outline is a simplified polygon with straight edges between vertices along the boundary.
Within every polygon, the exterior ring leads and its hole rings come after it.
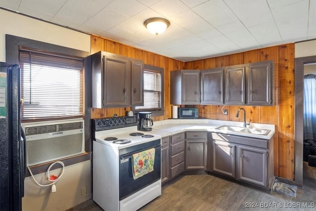
POLYGON ((157 111, 161 109, 161 74, 156 71, 144 71, 144 106, 136 110, 157 111))

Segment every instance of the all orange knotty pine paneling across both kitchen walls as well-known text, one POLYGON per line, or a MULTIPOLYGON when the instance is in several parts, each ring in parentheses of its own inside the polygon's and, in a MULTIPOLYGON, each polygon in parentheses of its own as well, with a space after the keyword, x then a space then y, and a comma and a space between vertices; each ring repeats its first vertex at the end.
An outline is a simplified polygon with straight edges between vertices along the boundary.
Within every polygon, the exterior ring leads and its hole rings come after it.
MULTIPOLYGON (((242 122, 242 115, 236 118, 237 109, 246 110, 247 122, 274 124, 275 175, 294 180, 294 43, 282 44, 257 50, 246 51, 192 62, 181 62, 146 50, 134 48, 99 36, 91 36, 91 53, 100 50, 141 59, 144 64, 164 68, 164 116, 154 117, 154 121, 171 118, 170 71, 181 69, 208 69, 244 63, 273 60, 274 106, 226 106, 228 115, 221 112, 223 106, 201 105, 199 115, 215 120, 242 122)), ((125 108, 91 109, 91 118, 124 116, 125 108)), ((242 114, 242 113, 241 113, 242 114)))

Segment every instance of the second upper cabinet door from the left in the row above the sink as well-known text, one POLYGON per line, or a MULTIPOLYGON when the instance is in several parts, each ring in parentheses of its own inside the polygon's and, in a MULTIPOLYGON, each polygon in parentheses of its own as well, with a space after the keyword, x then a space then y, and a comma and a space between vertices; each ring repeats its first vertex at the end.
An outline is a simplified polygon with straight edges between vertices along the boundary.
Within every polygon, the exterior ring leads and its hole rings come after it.
POLYGON ((200 71, 201 104, 224 104, 224 70, 213 68, 200 71))

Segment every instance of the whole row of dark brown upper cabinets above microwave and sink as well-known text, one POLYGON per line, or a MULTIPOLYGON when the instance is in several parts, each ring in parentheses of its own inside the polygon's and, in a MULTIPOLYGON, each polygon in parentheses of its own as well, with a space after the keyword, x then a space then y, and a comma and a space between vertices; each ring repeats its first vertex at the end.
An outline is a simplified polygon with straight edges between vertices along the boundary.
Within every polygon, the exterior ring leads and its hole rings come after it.
POLYGON ((170 72, 170 104, 272 105, 273 61, 170 72))

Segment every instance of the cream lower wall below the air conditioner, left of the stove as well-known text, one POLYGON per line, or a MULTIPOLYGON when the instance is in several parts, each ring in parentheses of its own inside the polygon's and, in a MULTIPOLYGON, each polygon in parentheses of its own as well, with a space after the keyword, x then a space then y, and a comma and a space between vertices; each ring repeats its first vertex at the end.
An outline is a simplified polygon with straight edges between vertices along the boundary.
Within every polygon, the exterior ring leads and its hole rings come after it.
MULTIPOLYGON (((59 165, 59 164, 56 164, 59 165)), ((64 173, 56 182, 56 192, 51 186, 40 187, 31 177, 24 182, 23 211, 65 211, 91 198, 91 162, 85 161, 65 167, 64 173), (87 194, 81 196, 81 187, 87 188, 87 194)), ((61 169, 51 170, 50 175, 59 175, 61 169)), ((35 175, 40 184, 47 184, 46 173, 35 175)))

